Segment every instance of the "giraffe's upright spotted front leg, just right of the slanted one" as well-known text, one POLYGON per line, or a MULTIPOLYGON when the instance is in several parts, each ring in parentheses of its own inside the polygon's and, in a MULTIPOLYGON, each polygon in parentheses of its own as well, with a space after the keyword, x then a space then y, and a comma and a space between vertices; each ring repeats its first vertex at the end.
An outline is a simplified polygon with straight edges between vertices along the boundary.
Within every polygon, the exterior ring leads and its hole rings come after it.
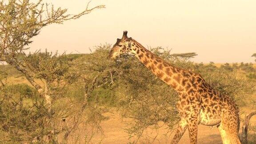
POLYGON ((190 138, 190 144, 196 144, 197 143, 197 120, 190 120, 188 122, 188 132, 189 132, 189 138, 190 138))

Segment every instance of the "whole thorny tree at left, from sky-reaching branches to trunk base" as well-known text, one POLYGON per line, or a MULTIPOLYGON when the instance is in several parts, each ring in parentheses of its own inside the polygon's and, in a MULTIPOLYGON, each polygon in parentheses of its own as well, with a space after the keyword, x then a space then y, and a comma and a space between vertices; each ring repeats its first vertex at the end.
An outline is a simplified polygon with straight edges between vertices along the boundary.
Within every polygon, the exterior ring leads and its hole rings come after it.
MULTIPOLYGON (((5 61, 20 71, 44 97, 48 108, 48 124, 52 125, 48 134, 49 141, 55 140, 55 128, 52 123, 52 96, 54 95, 52 92, 60 88, 60 85, 54 86, 54 84, 59 84, 67 78, 65 76, 69 72, 69 66, 61 63, 60 60, 64 56, 48 52, 26 56, 24 51, 29 49, 32 38, 45 26, 63 24, 64 21, 78 19, 95 9, 105 8, 104 5, 89 8, 88 5, 83 12, 72 15, 67 13, 67 9, 54 8, 43 0, 36 0, 36 2, 0 0, 0 61, 5 61), (35 78, 40 78, 45 86, 36 82, 35 78)), ((70 82, 71 79, 67 81, 70 82)))

